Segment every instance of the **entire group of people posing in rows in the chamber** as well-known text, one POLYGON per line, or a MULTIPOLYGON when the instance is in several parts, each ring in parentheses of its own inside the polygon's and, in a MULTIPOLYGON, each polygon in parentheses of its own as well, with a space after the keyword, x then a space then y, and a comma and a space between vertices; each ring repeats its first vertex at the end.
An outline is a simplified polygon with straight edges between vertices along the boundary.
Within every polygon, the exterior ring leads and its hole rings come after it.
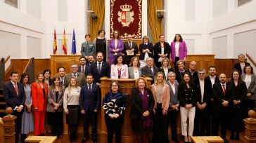
MULTIPOLYGON (((19 141, 20 131, 21 141, 28 132, 44 135, 46 123, 51 125, 52 135, 60 137, 63 134, 63 112, 70 142, 77 142, 77 125, 81 114, 84 115, 82 142, 89 139, 89 122, 92 126, 91 139, 97 142, 97 114, 101 107, 105 113, 108 142, 113 142, 114 134, 115 142, 121 142, 122 124, 127 120, 124 112, 129 98, 121 92, 122 87, 115 79, 136 79, 129 116, 138 142, 143 142, 145 138, 148 142, 169 142, 169 124, 172 140, 178 142, 179 114, 184 142, 191 142, 193 135, 218 135, 219 126, 225 142, 228 142, 227 129, 231 130, 230 139, 239 139, 243 118, 248 109, 255 108, 256 100, 256 76, 243 54, 238 55, 240 62, 227 82, 225 74, 217 76, 214 66, 209 67, 209 76, 206 76, 205 69, 196 71, 195 61, 189 63, 189 69, 185 69, 186 43, 180 34, 175 36, 171 46, 164 41, 163 35, 159 36, 160 42, 155 46, 148 42, 147 36, 143 36, 143 43, 139 46, 140 56, 136 57, 136 43, 129 43, 132 36, 128 36, 127 43, 122 43, 119 33, 115 31, 108 48, 110 63, 106 62, 107 53, 97 50, 101 43, 106 45, 103 40, 105 31, 100 30, 98 34, 101 38, 96 38, 94 43, 82 43, 84 56, 79 58, 79 66, 71 64, 70 74, 65 74, 65 68, 60 67, 58 74, 51 79, 51 71, 46 69, 37 74, 36 82, 30 84, 27 74, 22 74, 18 82, 18 73, 11 72, 11 81, 4 84, 4 99, 7 107, 11 107, 17 116, 16 142, 19 141), (121 48, 117 48, 119 46, 121 48), (175 62, 174 69, 170 62, 175 62), (110 91, 101 101, 100 79, 103 76, 113 81, 110 91), (153 79, 151 87, 147 87, 148 81, 144 76, 153 79)), ((85 36, 87 41, 89 37, 89 34, 85 36)))

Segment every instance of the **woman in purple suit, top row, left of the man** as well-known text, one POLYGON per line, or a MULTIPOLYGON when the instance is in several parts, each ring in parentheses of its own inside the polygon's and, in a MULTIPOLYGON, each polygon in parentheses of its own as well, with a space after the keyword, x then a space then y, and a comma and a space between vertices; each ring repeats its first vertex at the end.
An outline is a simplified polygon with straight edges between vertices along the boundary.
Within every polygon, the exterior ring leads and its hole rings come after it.
POLYGON ((110 67, 114 63, 115 55, 122 54, 122 50, 124 50, 124 43, 122 39, 120 39, 120 34, 117 30, 114 30, 112 38, 109 41, 108 45, 108 57, 110 60, 110 67))

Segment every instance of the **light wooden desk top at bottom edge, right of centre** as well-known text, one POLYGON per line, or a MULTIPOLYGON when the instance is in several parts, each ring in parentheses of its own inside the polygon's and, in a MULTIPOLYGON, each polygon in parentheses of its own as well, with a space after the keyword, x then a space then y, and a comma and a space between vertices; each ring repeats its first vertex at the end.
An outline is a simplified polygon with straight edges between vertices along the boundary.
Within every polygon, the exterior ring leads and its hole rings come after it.
POLYGON ((219 137, 219 136, 195 136, 195 137, 192 137, 192 141, 195 143, 224 142, 222 137, 219 137))

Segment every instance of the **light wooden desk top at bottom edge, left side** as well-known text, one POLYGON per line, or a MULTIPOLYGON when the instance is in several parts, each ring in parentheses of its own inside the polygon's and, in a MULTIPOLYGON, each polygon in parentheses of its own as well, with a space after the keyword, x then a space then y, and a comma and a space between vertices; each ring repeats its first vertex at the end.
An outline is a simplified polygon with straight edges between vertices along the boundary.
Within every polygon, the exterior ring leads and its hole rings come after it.
POLYGON ((25 142, 53 143, 56 139, 55 136, 29 136, 25 142))

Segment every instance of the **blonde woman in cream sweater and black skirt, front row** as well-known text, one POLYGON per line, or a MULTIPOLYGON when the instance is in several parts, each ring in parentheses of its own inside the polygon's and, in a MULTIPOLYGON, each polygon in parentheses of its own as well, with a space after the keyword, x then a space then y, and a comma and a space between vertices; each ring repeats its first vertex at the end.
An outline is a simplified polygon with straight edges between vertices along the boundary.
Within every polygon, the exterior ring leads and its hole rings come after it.
POLYGON ((72 77, 70 85, 65 89, 63 97, 63 108, 68 123, 70 142, 77 142, 77 124, 79 115, 79 96, 81 88, 77 86, 77 79, 72 77))

